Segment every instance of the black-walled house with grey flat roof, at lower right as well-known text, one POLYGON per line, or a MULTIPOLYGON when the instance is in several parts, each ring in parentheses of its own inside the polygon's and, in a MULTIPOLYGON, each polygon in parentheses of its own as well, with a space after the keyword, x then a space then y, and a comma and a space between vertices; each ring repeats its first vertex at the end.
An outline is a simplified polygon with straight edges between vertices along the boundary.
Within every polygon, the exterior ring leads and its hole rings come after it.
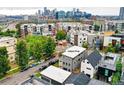
POLYGON ((110 82, 112 74, 116 71, 116 62, 120 60, 121 55, 108 52, 98 64, 97 78, 99 80, 110 82))

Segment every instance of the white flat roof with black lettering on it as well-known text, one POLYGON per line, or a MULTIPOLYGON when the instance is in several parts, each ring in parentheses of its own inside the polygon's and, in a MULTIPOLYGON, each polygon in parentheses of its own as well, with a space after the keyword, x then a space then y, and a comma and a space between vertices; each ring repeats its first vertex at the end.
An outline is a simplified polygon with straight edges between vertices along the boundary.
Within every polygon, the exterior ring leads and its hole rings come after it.
POLYGON ((74 57, 78 56, 80 53, 84 52, 85 50, 86 50, 86 48, 72 46, 72 47, 66 49, 66 51, 64 53, 62 53, 62 55, 74 58, 74 57))

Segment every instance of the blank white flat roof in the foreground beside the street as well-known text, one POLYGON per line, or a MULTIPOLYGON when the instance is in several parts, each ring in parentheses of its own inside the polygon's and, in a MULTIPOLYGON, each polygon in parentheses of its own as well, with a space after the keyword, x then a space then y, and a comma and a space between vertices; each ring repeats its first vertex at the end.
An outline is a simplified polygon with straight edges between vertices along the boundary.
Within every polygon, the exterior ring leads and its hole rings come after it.
POLYGON ((55 66, 49 66, 43 70, 41 74, 59 83, 64 83, 64 81, 71 75, 71 72, 65 71, 55 66))

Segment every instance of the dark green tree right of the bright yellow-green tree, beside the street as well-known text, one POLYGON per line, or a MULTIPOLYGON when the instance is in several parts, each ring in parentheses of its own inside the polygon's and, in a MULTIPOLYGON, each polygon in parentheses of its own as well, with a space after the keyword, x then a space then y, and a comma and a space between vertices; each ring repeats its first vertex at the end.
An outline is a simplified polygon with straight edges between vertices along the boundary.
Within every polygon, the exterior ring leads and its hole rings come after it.
POLYGON ((52 54, 55 51, 55 47, 56 47, 55 41, 52 38, 48 37, 47 41, 43 44, 42 47, 45 59, 52 56, 52 54))

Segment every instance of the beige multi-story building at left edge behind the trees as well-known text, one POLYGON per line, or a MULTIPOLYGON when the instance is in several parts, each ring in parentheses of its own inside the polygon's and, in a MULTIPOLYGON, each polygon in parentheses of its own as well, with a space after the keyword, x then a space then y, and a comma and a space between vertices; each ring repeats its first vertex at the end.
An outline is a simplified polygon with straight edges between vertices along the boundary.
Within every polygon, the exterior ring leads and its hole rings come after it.
POLYGON ((15 61, 16 42, 16 38, 13 37, 0 37, 0 47, 6 47, 10 62, 15 61))

